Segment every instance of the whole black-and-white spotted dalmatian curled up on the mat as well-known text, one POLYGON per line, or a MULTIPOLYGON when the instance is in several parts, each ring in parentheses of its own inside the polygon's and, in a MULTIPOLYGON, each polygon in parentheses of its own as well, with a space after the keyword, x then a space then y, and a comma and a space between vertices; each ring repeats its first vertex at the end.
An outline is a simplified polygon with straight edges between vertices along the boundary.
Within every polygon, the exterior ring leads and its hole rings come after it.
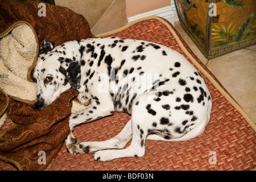
POLYGON ((173 49, 142 40, 95 38, 61 46, 44 40, 33 77, 37 109, 69 88, 79 90, 80 102, 88 106, 70 118, 65 145, 72 156, 93 152, 92 158, 101 162, 143 156, 146 139, 197 137, 212 110, 207 84, 195 67, 173 49), (117 136, 77 142, 75 126, 114 111, 131 115, 117 136), (123 149, 129 140, 130 146, 123 149))

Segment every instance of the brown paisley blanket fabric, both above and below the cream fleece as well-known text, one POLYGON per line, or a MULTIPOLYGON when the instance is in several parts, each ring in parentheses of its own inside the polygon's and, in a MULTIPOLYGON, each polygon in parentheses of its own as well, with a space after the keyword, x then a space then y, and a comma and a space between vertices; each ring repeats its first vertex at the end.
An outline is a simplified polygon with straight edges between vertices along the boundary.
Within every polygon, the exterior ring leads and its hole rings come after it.
MULTIPOLYGON (((68 40, 94 37, 82 15, 65 7, 45 3, 46 16, 39 16, 39 3, 41 2, 0 0, 0 33, 5 32, 13 23, 23 20, 34 28, 39 45, 43 39, 59 45, 68 40)), ((34 64, 35 62, 31 68, 34 64)), ((28 80, 31 80, 30 72, 28 70, 28 80)), ((13 163, 19 170, 49 169, 69 133, 71 101, 77 94, 77 91, 70 89, 43 110, 34 109, 31 102, 9 98, 7 114, 16 124, 0 133, 0 159, 13 163), (42 164, 44 162, 46 164, 42 164)), ((5 94, 0 94, 0 97, 2 114, 8 98, 5 94)))

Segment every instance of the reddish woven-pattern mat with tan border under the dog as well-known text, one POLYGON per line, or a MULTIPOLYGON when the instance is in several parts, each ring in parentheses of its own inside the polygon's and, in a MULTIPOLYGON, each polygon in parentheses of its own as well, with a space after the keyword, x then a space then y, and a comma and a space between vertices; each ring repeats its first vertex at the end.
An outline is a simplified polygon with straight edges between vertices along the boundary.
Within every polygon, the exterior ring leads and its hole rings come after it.
MULTIPOLYGON (((146 40, 180 52, 197 68, 208 84, 213 103, 209 125, 199 137, 186 141, 147 140, 142 158, 96 162, 90 158, 91 154, 77 154, 73 158, 63 145, 50 170, 251 170, 256 167, 254 123, 170 23, 150 16, 96 36, 146 40)), ((130 115, 115 112, 109 117, 77 126, 73 134, 78 142, 110 139, 123 129, 129 119, 130 115)), ((10 122, 7 119, 5 125, 10 125, 10 122)), ((0 170, 8 169, 15 168, 0 163, 0 170)))

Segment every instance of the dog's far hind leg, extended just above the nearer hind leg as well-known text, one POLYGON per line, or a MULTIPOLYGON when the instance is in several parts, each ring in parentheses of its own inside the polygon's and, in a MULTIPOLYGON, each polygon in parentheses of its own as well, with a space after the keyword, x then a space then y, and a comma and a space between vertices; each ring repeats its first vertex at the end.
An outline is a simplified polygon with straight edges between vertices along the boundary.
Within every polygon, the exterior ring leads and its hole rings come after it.
POLYGON ((75 144, 75 151, 80 154, 89 153, 109 148, 123 148, 131 139, 131 119, 126 123, 123 130, 114 138, 102 142, 81 142, 75 144))

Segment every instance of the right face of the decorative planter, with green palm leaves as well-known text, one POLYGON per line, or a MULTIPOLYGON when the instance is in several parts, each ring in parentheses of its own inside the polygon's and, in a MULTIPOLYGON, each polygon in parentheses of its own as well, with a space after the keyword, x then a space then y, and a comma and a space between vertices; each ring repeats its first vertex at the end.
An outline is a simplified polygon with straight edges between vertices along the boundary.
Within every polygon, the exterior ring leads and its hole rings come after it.
POLYGON ((212 26, 212 48, 236 44, 256 36, 256 1, 224 0, 216 3, 212 26))

